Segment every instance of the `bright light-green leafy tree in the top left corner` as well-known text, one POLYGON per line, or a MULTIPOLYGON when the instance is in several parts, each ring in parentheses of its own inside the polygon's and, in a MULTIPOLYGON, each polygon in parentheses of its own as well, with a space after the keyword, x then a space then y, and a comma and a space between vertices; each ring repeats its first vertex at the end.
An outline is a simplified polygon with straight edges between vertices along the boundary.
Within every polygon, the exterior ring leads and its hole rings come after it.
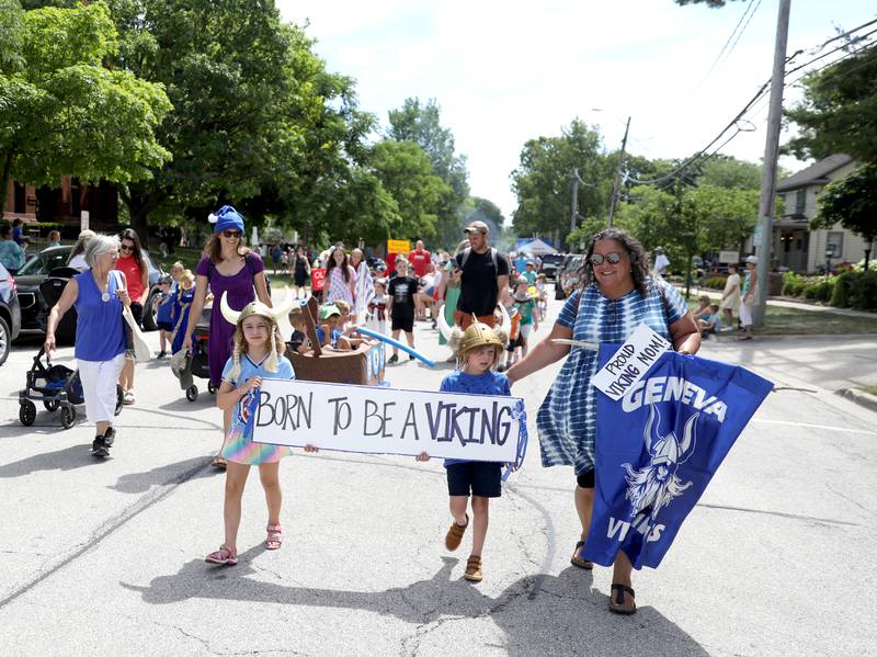
POLYGON ((162 86, 104 66, 118 48, 106 4, 22 13, 3 2, 0 205, 10 178, 125 183, 170 158, 155 135, 171 110, 162 86))

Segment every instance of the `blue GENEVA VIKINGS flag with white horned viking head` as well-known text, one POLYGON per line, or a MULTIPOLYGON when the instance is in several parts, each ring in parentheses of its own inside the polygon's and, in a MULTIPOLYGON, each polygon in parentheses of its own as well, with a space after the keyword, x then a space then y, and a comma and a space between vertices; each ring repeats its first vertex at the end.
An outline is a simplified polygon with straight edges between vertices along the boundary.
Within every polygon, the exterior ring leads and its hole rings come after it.
MULTIPOLYGON (((619 344, 600 346, 600 365, 619 344)), ((625 396, 596 392, 594 510, 584 558, 624 550, 657 568, 773 384, 736 365, 663 353, 625 396)))

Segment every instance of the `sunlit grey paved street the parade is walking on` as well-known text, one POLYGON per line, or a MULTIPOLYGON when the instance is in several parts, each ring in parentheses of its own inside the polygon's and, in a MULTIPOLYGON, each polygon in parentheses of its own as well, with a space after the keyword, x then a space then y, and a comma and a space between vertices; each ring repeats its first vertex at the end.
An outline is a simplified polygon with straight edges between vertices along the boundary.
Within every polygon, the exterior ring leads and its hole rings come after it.
MULTIPOLYGON (((417 339, 446 354, 425 325, 417 339)), ((187 403, 166 363, 138 367, 138 403, 119 417, 113 458, 95 463, 92 428, 62 431, 44 411, 31 429, 18 423, 34 350, 16 348, 0 370, 2 653, 877 654, 877 416, 831 393, 873 376, 877 340, 851 343, 705 346, 815 392, 771 395, 664 564, 636 577, 631 619, 606 611, 607 569, 569 565, 572 473, 542 468, 536 445, 491 506, 480 585, 462 580, 468 543, 443 546, 441 465, 389 456, 284 461, 276 553, 261 546, 252 477, 241 564, 207 567, 223 498, 208 465, 219 442, 212 398, 187 403)), ((435 389, 445 373, 405 362, 388 378, 435 389)), ((515 386, 531 424, 553 374, 515 386)))

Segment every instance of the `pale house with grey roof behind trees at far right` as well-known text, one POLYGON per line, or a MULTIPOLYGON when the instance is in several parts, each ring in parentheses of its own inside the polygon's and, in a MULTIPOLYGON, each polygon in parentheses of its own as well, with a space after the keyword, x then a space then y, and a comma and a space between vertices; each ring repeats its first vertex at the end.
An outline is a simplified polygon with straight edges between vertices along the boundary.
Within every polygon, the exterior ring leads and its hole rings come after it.
POLYGON ((817 213, 817 200, 827 184, 855 171, 857 162, 848 155, 836 154, 801 169, 776 185, 785 208, 774 219, 774 264, 796 272, 815 272, 825 264, 827 251, 832 264, 858 262, 865 257, 865 240, 835 224, 831 228, 811 230, 810 219, 817 213))

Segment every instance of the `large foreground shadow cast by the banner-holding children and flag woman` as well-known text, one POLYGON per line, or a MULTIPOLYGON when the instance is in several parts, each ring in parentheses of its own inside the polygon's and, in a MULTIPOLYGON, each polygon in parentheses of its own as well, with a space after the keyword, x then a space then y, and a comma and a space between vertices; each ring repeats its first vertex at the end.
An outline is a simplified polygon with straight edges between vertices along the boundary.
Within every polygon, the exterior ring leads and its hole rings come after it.
POLYGON ((197 559, 176 575, 155 578, 149 586, 119 582, 137 591, 150 604, 170 604, 190 598, 269 602, 308 608, 338 608, 391 615, 415 624, 405 639, 417 647, 433 630, 448 622, 489 618, 506 636, 510 655, 581 654, 582 650, 617 655, 707 655, 676 624, 650 607, 633 618, 610 613, 608 597, 592 589, 591 574, 572 566, 559 575, 519 579, 497 598, 477 586, 452 580, 457 558, 442 557, 443 565, 430 579, 386 591, 343 591, 285 587, 247 577, 257 573, 253 557, 264 551, 255 546, 240 555, 234 567, 212 567, 197 559), (590 648, 590 649, 589 649, 590 648))

